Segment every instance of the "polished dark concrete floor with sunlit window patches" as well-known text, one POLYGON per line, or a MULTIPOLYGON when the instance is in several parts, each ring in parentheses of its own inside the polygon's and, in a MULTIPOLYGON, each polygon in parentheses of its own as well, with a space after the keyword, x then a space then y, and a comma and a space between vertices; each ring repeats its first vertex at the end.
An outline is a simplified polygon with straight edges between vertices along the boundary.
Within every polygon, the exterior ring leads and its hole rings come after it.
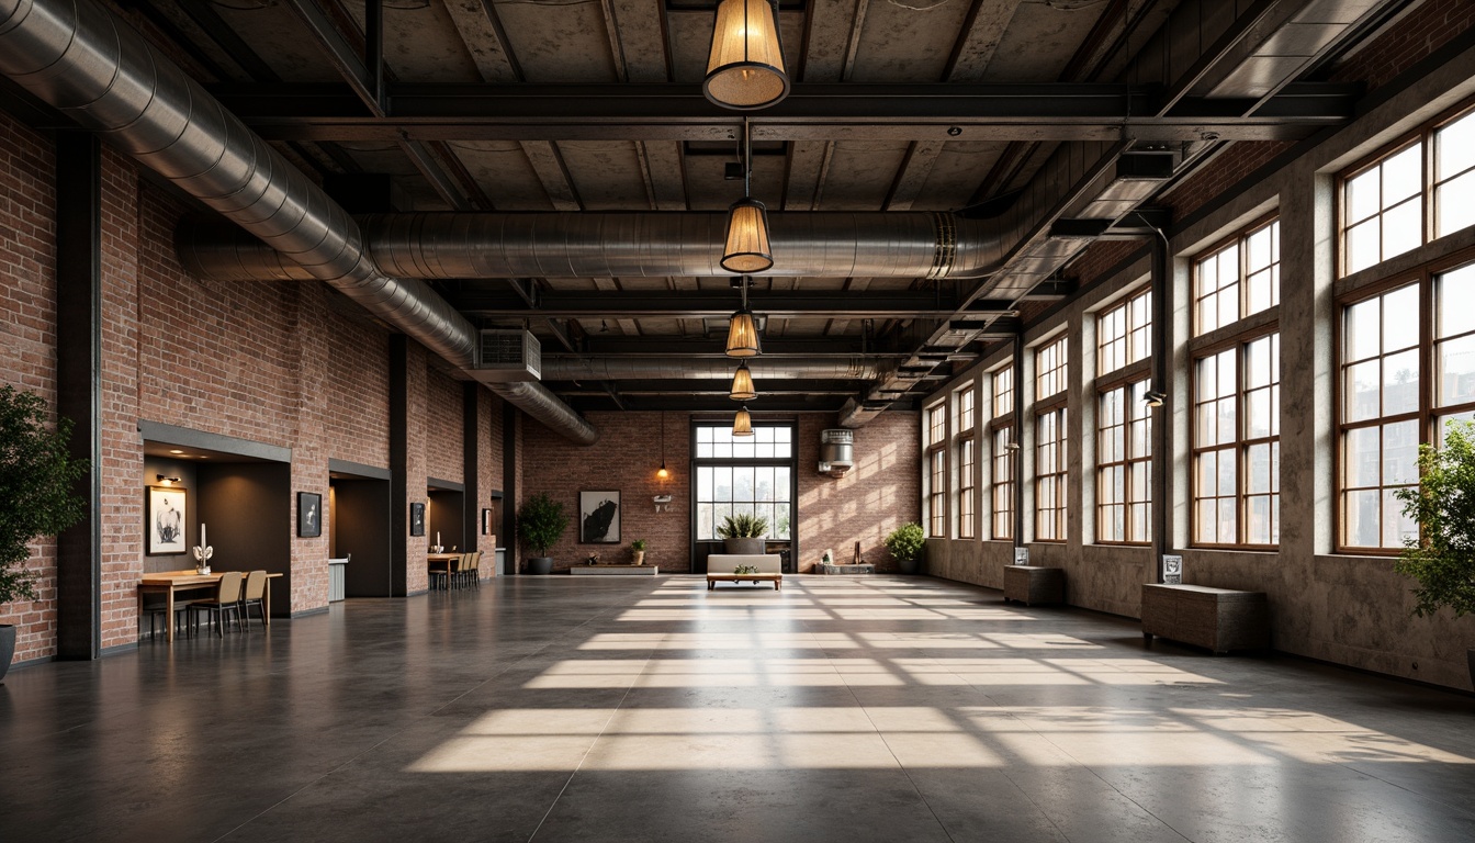
POLYGON ((0 687, 0 840, 1469 842, 1475 701, 922 577, 515 577, 0 687))

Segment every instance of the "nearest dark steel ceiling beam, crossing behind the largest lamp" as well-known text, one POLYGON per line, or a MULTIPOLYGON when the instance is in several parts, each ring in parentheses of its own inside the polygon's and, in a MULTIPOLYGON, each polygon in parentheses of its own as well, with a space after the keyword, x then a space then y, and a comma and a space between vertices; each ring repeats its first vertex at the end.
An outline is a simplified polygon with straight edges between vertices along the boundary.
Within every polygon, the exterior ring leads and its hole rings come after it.
MULTIPOLYGON (((307 0, 296 0, 305 3, 307 0)), ((354 78, 350 68, 345 75, 354 78)), ((211 89, 271 140, 732 140, 742 117, 689 84, 400 84, 384 115, 336 84, 220 84, 211 89)), ((1246 99, 1181 97, 1164 109, 1152 86, 795 84, 752 120, 757 140, 1117 140, 1301 139, 1351 115, 1361 89, 1298 83, 1246 117, 1246 99)))

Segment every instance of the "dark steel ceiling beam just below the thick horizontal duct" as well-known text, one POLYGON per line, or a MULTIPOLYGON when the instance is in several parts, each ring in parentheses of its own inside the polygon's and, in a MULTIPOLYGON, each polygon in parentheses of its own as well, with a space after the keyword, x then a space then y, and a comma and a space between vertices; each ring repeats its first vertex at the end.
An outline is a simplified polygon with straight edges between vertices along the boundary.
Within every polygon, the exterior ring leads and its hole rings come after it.
MULTIPOLYGON (((530 306, 521 295, 504 288, 450 291, 445 294, 462 313, 479 316, 541 316, 594 319, 701 319, 727 317, 738 309, 738 295, 720 291, 538 291, 530 306)), ((751 292, 748 301, 760 316, 779 319, 912 319, 916 316, 951 316, 963 307, 954 297, 938 291, 807 291, 785 289, 751 292)), ((1006 313, 1007 303, 982 300, 968 307, 969 313, 1006 313)))

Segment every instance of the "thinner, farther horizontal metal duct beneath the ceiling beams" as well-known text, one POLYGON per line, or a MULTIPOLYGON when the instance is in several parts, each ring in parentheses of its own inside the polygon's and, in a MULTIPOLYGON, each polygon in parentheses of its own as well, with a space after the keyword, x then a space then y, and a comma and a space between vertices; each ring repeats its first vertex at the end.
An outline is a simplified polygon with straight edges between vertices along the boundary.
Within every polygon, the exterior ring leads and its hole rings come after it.
MULTIPOLYGON (((543 376, 549 381, 724 381, 733 376, 732 360, 692 357, 544 357, 543 376)), ((832 379, 873 381, 888 368, 866 357, 850 360, 805 360, 752 357, 748 360, 755 381, 832 379)))

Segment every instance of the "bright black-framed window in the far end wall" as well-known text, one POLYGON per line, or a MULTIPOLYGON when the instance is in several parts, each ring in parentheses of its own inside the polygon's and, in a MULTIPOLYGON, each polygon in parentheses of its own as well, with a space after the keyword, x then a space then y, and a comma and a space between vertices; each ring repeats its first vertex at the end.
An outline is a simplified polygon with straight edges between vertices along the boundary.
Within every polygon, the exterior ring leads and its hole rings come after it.
POLYGON ((792 539, 794 425, 755 424, 735 437, 732 424, 696 425, 696 539, 717 539, 727 515, 768 520, 768 539, 792 539))

